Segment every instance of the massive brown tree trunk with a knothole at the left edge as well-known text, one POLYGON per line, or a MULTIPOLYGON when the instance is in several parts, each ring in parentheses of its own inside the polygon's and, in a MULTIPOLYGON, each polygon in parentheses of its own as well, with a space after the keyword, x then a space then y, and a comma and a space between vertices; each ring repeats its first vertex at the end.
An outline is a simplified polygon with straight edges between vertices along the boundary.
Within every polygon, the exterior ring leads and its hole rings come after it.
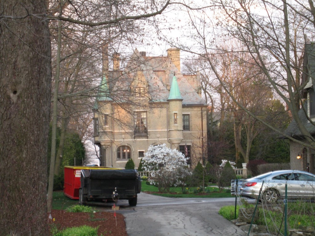
POLYGON ((0 9, 0 234, 48 235, 50 40, 48 21, 31 16, 46 13, 45 1, 0 0, 0 9))

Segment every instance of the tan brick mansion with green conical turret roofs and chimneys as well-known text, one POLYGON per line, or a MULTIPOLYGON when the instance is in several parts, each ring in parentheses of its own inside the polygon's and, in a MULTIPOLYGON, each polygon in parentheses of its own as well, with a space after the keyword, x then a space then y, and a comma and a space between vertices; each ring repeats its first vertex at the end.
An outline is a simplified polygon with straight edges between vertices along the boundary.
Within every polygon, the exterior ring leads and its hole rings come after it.
POLYGON ((112 71, 103 59, 94 111, 94 143, 102 166, 124 168, 132 159, 138 167, 148 147, 162 143, 186 153, 192 166, 207 156, 207 105, 199 78, 181 74, 179 49, 167 52, 147 57, 135 49, 123 71, 118 54, 112 71), (117 91, 119 101, 113 98, 117 91))

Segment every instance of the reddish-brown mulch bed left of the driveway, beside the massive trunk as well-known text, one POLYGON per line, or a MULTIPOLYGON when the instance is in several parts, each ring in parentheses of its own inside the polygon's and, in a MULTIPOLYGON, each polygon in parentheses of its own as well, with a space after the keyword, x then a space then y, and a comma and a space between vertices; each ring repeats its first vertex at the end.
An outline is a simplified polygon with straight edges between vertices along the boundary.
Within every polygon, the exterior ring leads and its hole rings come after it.
POLYGON ((98 211, 95 213, 86 212, 66 212, 62 210, 52 210, 53 220, 50 225, 54 225, 59 230, 70 227, 88 225, 93 228, 98 227, 98 235, 128 236, 126 232, 125 217, 116 213, 116 219, 113 212, 98 211), (117 225, 116 225, 117 223, 117 225))

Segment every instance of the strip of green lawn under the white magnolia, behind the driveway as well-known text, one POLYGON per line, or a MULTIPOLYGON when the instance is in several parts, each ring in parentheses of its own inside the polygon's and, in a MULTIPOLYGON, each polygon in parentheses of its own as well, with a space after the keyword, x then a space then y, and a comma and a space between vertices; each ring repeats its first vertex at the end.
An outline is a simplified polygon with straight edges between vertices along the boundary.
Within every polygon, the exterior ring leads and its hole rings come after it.
POLYGON ((170 193, 158 193, 158 188, 153 185, 148 185, 146 181, 141 182, 141 192, 149 192, 153 195, 159 195, 169 198, 226 198, 232 197, 230 190, 224 190, 219 193, 219 188, 208 186, 205 188, 205 192, 201 193, 197 188, 185 188, 186 193, 183 194, 180 187, 170 188, 170 193))

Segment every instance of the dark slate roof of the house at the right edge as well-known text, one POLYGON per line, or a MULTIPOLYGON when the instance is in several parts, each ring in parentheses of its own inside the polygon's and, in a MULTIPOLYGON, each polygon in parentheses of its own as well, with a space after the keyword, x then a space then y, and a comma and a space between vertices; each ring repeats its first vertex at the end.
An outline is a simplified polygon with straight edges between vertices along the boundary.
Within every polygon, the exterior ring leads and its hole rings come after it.
MULTIPOLYGON (((310 89, 314 89, 315 85, 315 42, 307 42, 305 44, 304 50, 304 61, 303 61, 303 73, 302 73, 302 84, 306 84, 304 90, 304 98, 307 98, 307 92, 310 89)), ((303 94, 302 94, 303 95, 303 94)), ((307 101, 304 104, 305 110, 308 110, 307 101)), ((315 134, 315 126, 311 124, 307 120, 306 114, 304 110, 299 110, 298 115, 301 119, 302 124, 306 127, 307 131, 310 134, 315 134)), ((295 122, 295 120, 291 121, 288 128, 284 131, 285 134, 294 137, 300 137, 301 132, 295 122)), ((283 138, 283 137, 282 137, 283 138)))

